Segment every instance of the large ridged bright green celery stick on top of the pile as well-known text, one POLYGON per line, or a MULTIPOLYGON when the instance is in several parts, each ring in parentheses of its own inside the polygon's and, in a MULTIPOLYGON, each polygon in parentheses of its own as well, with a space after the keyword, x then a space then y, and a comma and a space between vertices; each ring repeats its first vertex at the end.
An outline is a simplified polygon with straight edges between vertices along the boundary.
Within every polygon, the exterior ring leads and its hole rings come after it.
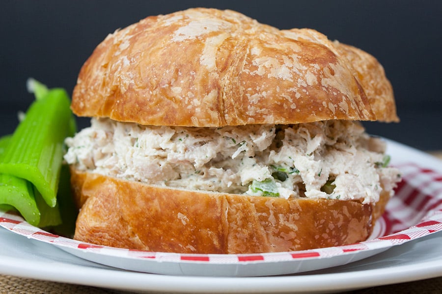
POLYGON ((56 204, 63 141, 73 129, 69 106, 63 89, 52 89, 34 101, 0 162, 0 173, 28 180, 51 207, 56 204))

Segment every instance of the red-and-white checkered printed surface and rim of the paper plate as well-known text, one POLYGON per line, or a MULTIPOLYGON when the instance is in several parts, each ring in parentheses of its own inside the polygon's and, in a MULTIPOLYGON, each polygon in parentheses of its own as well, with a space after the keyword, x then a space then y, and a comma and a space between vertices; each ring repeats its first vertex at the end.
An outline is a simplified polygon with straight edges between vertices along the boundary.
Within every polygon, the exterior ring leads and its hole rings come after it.
POLYGON ((383 216, 384 236, 353 245, 261 254, 179 254, 86 244, 31 226, 21 216, 0 211, 0 226, 30 239, 110 256, 158 262, 241 264, 316 259, 400 245, 442 231, 442 175, 415 163, 397 165, 403 181, 383 216))

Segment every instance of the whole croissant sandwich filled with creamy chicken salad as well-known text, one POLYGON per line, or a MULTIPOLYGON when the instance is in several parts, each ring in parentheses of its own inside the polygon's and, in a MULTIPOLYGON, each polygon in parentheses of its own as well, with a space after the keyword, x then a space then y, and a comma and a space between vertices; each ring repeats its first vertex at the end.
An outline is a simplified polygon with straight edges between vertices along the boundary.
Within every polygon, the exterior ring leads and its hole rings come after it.
POLYGON ((366 240, 399 171, 360 121, 397 122, 384 69, 312 29, 194 8, 115 31, 67 138, 75 239, 179 253, 366 240))

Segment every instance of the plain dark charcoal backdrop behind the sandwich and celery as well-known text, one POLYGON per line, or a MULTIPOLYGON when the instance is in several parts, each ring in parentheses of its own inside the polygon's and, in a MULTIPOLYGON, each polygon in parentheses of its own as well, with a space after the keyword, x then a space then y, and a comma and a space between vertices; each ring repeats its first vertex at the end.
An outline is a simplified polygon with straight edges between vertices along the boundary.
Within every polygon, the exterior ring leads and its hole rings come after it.
MULTIPOLYGON (((423 150, 442 149, 442 1, 35 1, 0 4, 0 135, 33 97, 34 77, 69 93, 80 67, 108 33, 189 7, 229 8, 278 28, 309 27, 359 47, 384 66, 401 123, 365 123, 369 133, 423 150)), ((88 124, 82 120, 80 125, 88 124)))

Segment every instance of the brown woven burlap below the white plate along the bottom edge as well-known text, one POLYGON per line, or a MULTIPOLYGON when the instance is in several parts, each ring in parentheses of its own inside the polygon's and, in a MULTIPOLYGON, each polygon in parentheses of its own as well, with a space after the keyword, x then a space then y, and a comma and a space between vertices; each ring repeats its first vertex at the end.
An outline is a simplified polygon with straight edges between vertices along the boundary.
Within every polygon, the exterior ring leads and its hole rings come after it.
MULTIPOLYGON (((442 273, 441 273, 442 274, 442 273)), ((72 285, 0 275, 0 294, 127 294, 129 292, 114 291, 96 287, 72 285)), ((385 285, 343 292, 343 294, 441 294, 442 276, 439 278, 414 281, 401 284, 385 285)), ((162 293, 165 294, 165 293, 162 293)))

